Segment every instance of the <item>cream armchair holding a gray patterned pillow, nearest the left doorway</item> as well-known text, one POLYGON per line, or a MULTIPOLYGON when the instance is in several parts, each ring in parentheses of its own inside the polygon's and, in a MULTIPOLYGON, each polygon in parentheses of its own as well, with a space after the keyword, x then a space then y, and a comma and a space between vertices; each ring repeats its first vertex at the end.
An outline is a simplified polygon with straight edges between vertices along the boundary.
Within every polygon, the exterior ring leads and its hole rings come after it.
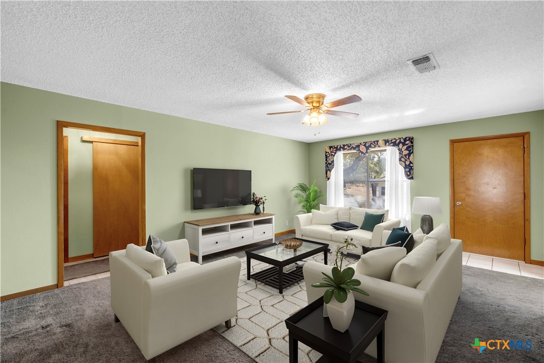
POLYGON ((174 348, 237 314, 241 263, 236 257, 190 262, 187 239, 166 242, 176 255, 177 270, 151 278, 125 256, 109 254, 115 322, 121 322, 145 359, 174 348))

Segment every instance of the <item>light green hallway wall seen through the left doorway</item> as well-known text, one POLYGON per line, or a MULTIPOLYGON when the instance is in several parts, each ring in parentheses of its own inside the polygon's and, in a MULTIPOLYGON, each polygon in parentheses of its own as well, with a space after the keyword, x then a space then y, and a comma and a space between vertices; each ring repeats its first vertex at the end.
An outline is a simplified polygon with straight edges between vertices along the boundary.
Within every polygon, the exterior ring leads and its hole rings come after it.
POLYGON ((65 128, 68 137, 68 256, 92 254, 92 143, 82 136, 138 141, 135 136, 65 128))

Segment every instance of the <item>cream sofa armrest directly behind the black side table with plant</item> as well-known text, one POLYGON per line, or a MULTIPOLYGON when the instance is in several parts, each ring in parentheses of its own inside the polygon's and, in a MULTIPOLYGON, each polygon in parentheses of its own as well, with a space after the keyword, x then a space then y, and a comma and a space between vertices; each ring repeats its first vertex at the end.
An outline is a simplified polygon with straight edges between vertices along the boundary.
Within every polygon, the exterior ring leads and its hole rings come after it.
MULTIPOLYGON (((304 265, 302 271, 308 303, 322 298, 326 289, 311 287, 311 284, 323 282, 322 272, 330 274, 331 266, 310 261, 304 265)), ((385 321, 385 361, 424 362, 425 329, 430 320, 427 293, 357 273, 354 279, 360 280, 359 287, 369 293, 369 296, 354 293, 356 300, 388 311, 385 321)), ((370 343, 365 353, 376 358, 375 340, 370 343)))

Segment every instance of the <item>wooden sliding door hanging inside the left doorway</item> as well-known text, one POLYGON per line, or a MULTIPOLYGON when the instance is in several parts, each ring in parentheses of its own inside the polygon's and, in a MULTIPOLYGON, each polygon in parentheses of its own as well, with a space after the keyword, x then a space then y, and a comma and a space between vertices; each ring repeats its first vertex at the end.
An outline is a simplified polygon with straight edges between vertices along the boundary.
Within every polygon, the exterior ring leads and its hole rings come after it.
POLYGON ((139 245, 138 146, 92 143, 94 257, 139 245))

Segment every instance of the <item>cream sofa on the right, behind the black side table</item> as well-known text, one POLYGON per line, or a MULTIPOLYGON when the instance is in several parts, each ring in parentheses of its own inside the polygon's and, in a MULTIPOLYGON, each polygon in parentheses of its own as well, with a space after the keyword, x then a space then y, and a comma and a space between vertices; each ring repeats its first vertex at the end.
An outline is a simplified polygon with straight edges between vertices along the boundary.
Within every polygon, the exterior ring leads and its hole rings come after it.
MULTIPOLYGON (((384 235, 388 236, 388 233, 386 231, 384 235)), ((355 265, 352 267, 356 268, 355 265)), ((311 287, 311 284, 322 282, 322 272, 330 273, 330 270, 331 266, 316 262, 305 264, 308 303, 322 298, 325 289, 311 287)), ((369 293, 369 296, 354 293, 356 300, 388 311, 385 361, 434 362, 461 293, 462 241, 451 239, 447 249, 416 287, 358 273, 354 279, 360 280, 360 288, 369 293)), ((375 339, 364 352, 376 358, 375 339)))

